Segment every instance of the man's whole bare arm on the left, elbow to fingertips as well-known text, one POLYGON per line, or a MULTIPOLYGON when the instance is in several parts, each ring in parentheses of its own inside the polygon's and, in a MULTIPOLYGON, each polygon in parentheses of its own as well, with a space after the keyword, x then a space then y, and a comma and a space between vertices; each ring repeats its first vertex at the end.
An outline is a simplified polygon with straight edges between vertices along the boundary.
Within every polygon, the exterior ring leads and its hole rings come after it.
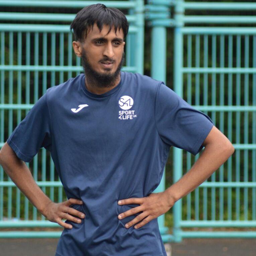
POLYGON ((64 223, 61 220, 62 218, 81 223, 80 219, 68 213, 84 218, 82 212, 69 207, 70 204, 81 204, 83 202, 75 198, 70 198, 65 202, 54 203, 36 184, 25 162, 17 157, 7 142, 0 150, 0 165, 20 191, 49 221, 57 222, 64 228, 72 228, 72 226, 64 223))

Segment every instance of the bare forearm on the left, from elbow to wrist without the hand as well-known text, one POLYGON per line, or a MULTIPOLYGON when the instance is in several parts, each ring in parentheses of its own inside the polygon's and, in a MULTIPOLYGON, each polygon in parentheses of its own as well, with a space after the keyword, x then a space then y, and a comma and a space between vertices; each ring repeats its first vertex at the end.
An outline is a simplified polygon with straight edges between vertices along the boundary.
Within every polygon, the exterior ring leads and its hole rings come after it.
POLYGON ((45 205, 51 202, 51 199, 36 184, 26 164, 14 156, 2 159, 0 164, 20 191, 43 213, 45 205))

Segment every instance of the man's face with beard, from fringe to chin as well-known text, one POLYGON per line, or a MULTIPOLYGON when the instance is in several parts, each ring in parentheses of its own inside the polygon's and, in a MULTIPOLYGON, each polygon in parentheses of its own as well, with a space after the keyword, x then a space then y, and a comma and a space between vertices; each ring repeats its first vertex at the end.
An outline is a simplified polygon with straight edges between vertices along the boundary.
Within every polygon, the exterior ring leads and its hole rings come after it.
MULTIPOLYGON (((124 62, 123 31, 104 25, 99 31, 96 23, 81 44, 80 57, 85 74, 99 80, 101 86, 112 86, 124 62)), ((99 84, 100 86, 100 84, 99 84)))

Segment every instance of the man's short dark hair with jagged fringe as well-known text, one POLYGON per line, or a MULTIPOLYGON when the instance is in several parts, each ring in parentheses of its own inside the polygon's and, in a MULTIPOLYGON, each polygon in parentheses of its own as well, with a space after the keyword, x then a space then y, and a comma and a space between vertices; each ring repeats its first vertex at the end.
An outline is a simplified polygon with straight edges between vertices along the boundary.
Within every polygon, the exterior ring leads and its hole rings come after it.
POLYGON ((90 31, 95 22, 100 31, 103 25, 108 25, 109 33, 114 25, 115 33, 117 28, 122 28, 124 38, 128 33, 128 21, 120 10, 108 8, 104 4, 92 4, 80 10, 70 25, 70 30, 72 31, 73 29, 75 40, 82 41, 83 38, 86 38, 87 32, 90 31))

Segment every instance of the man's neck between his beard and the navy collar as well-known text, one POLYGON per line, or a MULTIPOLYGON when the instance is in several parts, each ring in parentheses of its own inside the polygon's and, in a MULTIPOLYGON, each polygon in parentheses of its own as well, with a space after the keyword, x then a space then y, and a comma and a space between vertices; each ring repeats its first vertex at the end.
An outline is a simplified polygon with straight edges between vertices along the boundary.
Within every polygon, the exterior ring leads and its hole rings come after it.
POLYGON ((89 92, 92 92, 94 94, 103 94, 105 92, 110 91, 114 87, 118 85, 121 79, 121 73, 119 72, 119 75, 115 80, 110 82, 107 86, 99 85, 99 82, 96 81, 93 77, 90 77, 88 75, 85 75, 85 87, 89 92))

